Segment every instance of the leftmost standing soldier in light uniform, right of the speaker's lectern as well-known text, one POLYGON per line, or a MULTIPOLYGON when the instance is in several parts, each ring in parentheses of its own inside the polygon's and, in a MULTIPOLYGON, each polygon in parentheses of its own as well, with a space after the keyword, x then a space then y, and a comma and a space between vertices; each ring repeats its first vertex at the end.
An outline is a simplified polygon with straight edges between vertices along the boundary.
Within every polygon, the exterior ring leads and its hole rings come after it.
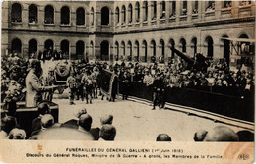
POLYGON ((70 100, 70 105, 75 105, 74 103, 74 98, 75 98, 75 92, 77 89, 77 83, 76 83, 76 78, 74 73, 70 73, 70 76, 67 79, 67 85, 69 87, 69 100, 70 100))

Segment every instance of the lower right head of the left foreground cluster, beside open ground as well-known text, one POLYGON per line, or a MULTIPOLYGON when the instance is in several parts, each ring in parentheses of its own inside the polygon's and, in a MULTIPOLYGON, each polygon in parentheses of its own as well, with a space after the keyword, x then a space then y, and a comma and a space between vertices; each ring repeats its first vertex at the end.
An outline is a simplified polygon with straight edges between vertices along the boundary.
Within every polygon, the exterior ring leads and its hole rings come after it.
POLYGON ((98 140, 113 141, 116 136, 116 129, 114 126, 105 124, 102 126, 98 140))

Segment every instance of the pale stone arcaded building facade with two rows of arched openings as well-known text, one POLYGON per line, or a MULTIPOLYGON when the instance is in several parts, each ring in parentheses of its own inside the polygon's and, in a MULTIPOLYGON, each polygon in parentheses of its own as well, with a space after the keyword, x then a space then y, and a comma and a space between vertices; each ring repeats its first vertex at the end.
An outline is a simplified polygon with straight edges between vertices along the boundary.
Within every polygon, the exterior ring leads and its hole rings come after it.
POLYGON ((170 47, 230 60, 222 38, 255 39, 254 1, 5 1, 2 54, 167 63, 170 47))

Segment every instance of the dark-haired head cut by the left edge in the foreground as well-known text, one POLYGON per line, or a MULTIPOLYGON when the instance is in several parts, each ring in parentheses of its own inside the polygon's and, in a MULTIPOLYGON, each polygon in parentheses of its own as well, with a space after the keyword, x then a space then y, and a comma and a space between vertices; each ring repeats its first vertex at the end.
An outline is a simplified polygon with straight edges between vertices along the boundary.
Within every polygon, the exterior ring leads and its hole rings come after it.
POLYGON ((17 120, 13 116, 5 116, 1 119, 0 138, 6 138, 12 129, 17 126, 17 120))

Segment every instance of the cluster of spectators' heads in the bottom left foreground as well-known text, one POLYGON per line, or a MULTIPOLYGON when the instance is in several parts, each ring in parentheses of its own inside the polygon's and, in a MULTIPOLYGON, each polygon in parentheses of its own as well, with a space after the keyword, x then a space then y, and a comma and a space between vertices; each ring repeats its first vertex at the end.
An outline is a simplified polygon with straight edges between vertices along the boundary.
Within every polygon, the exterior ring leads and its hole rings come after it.
POLYGON ((56 123, 51 115, 48 103, 42 102, 38 105, 38 116, 32 120, 30 133, 19 128, 17 119, 14 116, 5 115, 1 119, 0 137, 2 139, 47 139, 47 131, 55 131, 57 129, 57 131, 61 130, 63 133, 70 133, 70 131, 80 132, 78 134, 82 137, 85 136, 88 140, 114 140, 116 129, 112 125, 113 116, 102 116, 100 122, 101 127, 91 128, 93 118, 85 108, 82 108, 75 113, 74 119, 62 124, 56 123), (44 135, 45 133, 46 135, 44 135))

